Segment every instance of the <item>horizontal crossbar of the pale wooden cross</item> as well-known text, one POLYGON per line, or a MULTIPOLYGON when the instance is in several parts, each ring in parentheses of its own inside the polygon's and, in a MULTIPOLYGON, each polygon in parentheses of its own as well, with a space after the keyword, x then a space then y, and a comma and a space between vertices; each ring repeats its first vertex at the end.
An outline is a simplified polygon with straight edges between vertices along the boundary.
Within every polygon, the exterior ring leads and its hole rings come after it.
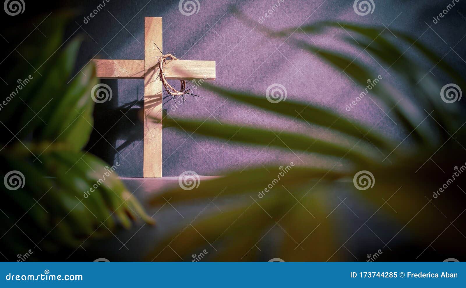
MULTIPOLYGON (((144 60, 95 59, 94 63, 101 79, 144 79, 144 60)), ((167 60, 164 74, 168 80, 215 80, 215 61, 167 60)))

